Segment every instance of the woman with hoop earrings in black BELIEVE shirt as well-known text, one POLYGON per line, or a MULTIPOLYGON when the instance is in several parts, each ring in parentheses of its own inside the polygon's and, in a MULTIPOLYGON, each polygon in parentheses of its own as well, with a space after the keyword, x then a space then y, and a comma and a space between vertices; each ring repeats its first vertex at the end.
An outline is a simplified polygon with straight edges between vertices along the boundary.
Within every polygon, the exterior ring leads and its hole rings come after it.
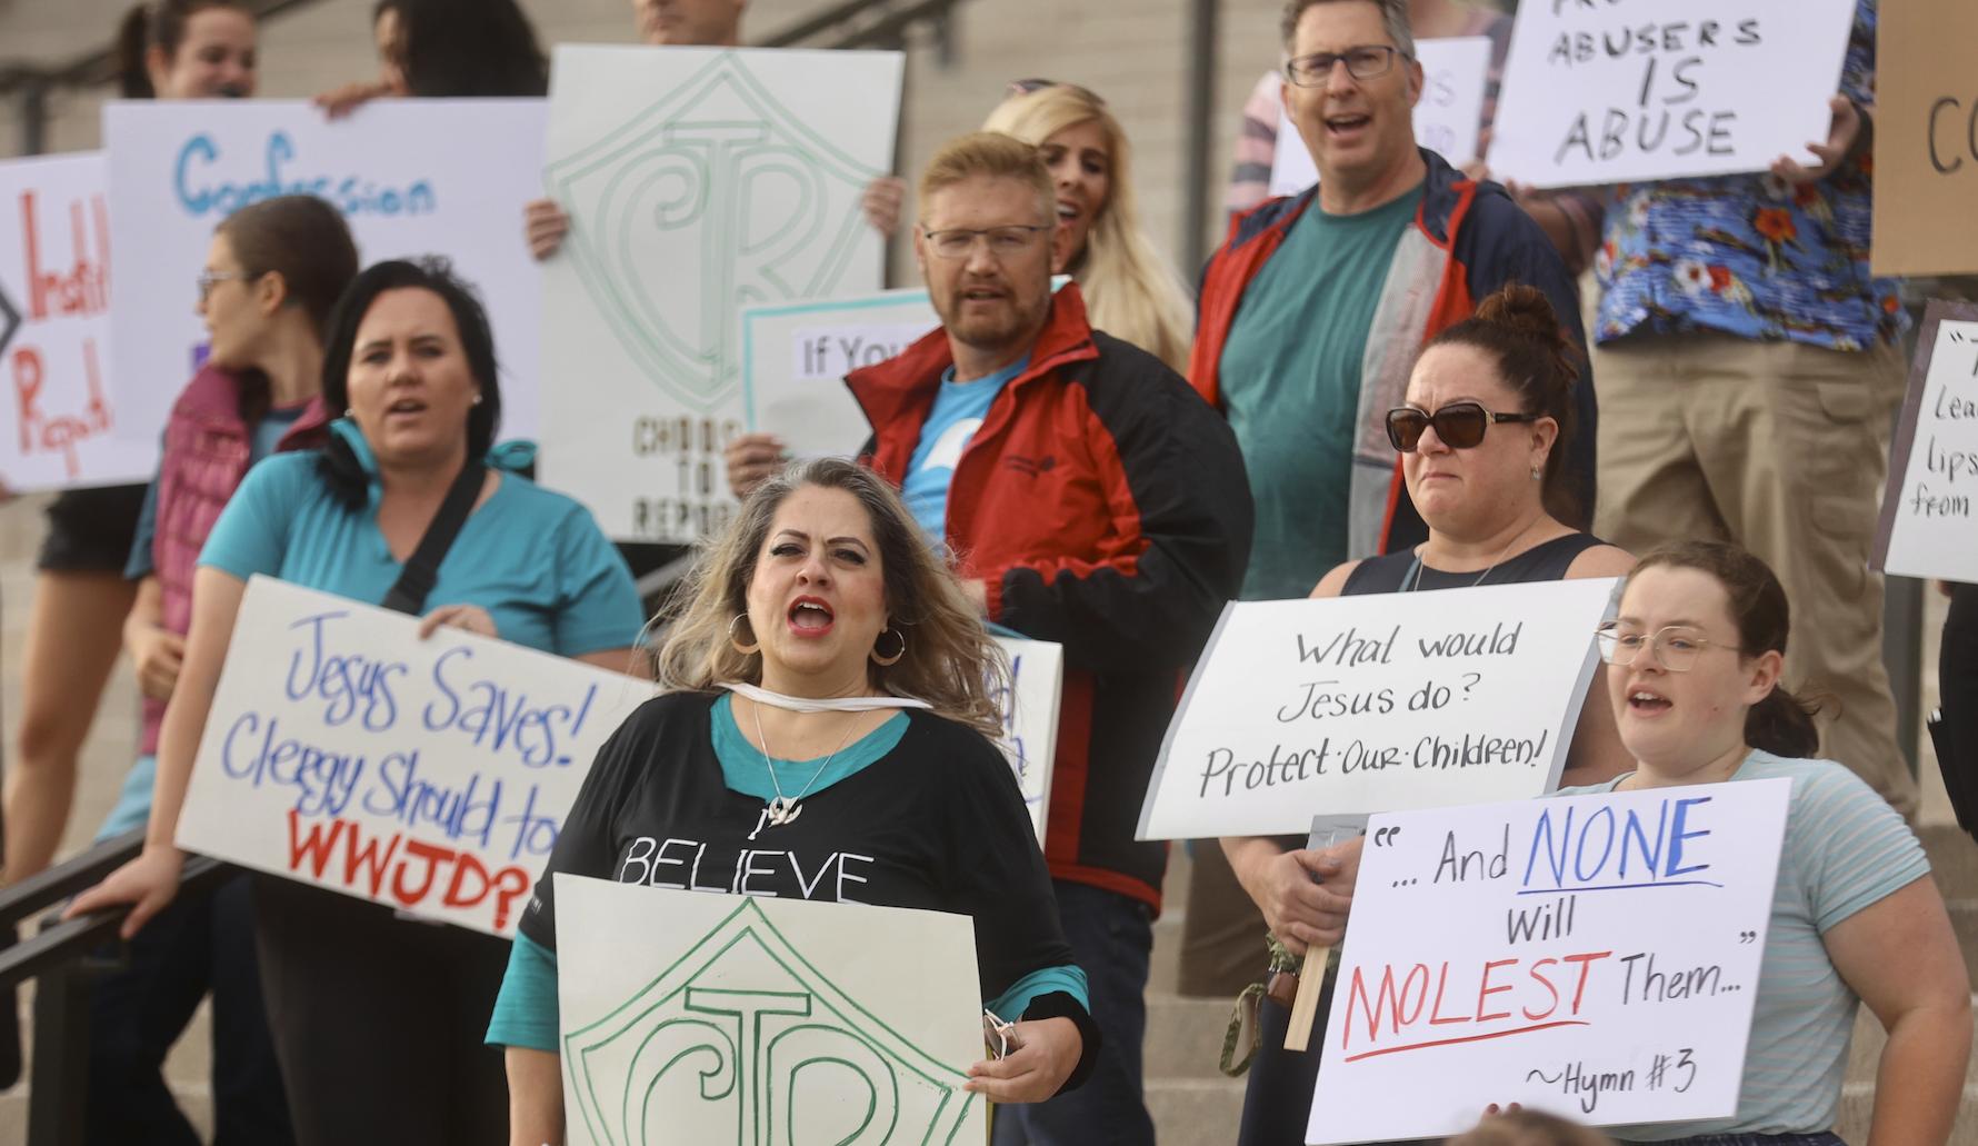
POLYGON ((989 742, 1001 655, 900 495, 851 461, 791 467, 748 497, 688 592, 661 695, 599 750, 518 926, 489 1029, 508 1057, 508 1140, 564 1140, 558 871, 969 914, 983 1003, 1017 1019, 1017 1049, 965 1089, 1040 1102, 1076 1087, 1098 1029, 989 742), (665 855, 676 841, 694 841, 696 871, 746 871, 684 877, 665 855), (837 879, 803 879, 829 865, 837 879))

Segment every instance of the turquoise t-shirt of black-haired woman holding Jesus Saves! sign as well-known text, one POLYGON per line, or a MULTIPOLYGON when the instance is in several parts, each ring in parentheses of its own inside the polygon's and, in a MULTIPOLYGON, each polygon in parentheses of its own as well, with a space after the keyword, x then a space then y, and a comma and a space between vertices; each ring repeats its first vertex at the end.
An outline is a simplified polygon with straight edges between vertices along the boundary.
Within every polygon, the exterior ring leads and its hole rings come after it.
MULTIPOLYGON (((348 420, 330 431, 376 473, 348 420)), ((316 473, 313 451, 279 453, 247 471, 200 564, 360 602, 382 602, 405 568, 378 530, 376 477, 366 505, 348 509, 316 473)), ((502 473, 467 515, 423 612, 457 604, 487 610, 504 641, 562 657, 629 647, 641 627, 631 572, 589 511, 514 473, 502 473)))

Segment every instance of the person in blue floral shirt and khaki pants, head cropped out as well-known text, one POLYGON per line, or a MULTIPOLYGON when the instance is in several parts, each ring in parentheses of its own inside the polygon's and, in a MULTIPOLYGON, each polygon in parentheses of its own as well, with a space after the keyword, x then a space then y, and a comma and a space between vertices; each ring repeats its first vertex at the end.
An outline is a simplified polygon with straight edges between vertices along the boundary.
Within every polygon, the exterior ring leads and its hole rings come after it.
POLYGON ((1867 568, 1907 327, 1897 283, 1867 269, 1875 18, 1859 0, 1818 162, 1614 188, 1594 255, 1594 530, 1634 552, 1731 538, 1778 570, 1786 673, 1838 701, 1822 756, 1911 815, 1867 568))

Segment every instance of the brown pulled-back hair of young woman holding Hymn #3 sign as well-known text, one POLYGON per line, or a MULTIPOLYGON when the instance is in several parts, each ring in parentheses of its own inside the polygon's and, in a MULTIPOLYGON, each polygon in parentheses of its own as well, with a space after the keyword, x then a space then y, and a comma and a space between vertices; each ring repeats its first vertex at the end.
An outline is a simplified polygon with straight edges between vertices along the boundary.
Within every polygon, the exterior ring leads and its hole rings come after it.
MULTIPOLYGON (((1751 552, 1723 540, 1673 540, 1648 550, 1628 580, 1656 566, 1693 568, 1725 588, 1743 659, 1786 651, 1792 606, 1772 568, 1751 552)), ((1774 756, 1814 756, 1820 752, 1820 728, 1814 726, 1818 711, 1818 703, 1802 701, 1778 685, 1745 715, 1745 742, 1774 756)))

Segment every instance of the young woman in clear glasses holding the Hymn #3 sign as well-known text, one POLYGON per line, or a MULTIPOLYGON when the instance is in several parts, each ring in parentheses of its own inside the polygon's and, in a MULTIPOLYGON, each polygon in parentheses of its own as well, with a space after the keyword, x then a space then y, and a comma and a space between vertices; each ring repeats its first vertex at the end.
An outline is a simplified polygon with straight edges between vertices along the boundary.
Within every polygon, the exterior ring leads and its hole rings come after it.
POLYGON ((1600 631, 1632 770, 1561 796, 1792 780, 1737 1112, 1606 1128, 1624 1142, 1840 1146, 1863 1002, 1889 1033, 1869 1142, 1950 1138, 1972 1041, 1964 958, 1903 819, 1842 764, 1808 758, 1820 744, 1812 709, 1780 685, 1788 620, 1762 560, 1691 540, 1644 556, 1600 631))

